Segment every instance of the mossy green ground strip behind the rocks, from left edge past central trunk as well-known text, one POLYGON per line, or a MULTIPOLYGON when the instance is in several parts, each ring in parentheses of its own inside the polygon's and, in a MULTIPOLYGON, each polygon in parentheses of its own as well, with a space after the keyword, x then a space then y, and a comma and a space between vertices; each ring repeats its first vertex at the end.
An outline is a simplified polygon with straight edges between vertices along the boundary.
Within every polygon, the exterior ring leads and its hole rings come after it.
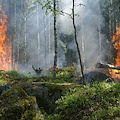
POLYGON ((44 70, 40 76, 28 73, 28 76, 12 70, 12 71, 0 71, 0 84, 14 84, 20 82, 48 82, 48 83, 72 83, 76 77, 76 67, 66 67, 63 69, 57 69, 56 80, 53 81, 53 71, 44 70), (46 74, 47 73, 47 76, 46 74))

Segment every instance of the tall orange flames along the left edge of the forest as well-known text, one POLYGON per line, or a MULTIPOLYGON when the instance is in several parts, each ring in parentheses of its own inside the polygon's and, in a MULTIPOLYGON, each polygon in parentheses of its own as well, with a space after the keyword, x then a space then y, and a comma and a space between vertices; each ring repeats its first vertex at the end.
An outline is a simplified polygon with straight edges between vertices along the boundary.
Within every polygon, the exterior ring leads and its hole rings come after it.
POLYGON ((7 38, 7 15, 0 5, 0 70, 11 69, 11 42, 7 38))

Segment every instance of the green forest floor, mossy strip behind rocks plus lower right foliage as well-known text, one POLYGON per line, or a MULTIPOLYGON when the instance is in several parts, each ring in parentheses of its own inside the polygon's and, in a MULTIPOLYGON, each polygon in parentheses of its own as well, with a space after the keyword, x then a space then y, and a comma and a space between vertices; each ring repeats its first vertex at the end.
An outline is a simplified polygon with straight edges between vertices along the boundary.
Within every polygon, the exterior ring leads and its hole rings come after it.
POLYGON ((57 107, 55 111, 51 114, 42 111, 44 118, 38 120, 120 120, 119 80, 117 83, 105 83, 104 80, 100 83, 84 86, 76 83, 81 79, 80 71, 76 67, 57 69, 56 80, 54 81, 52 72, 51 70, 45 70, 40 76, 31 73, 25 76, 14 70, 1 70, 0 86, 40 82, 61 84, 61 86, 73 84, 74 87, 68 87, 69 90, 63 94, 62 98, 56 100, 57 107))

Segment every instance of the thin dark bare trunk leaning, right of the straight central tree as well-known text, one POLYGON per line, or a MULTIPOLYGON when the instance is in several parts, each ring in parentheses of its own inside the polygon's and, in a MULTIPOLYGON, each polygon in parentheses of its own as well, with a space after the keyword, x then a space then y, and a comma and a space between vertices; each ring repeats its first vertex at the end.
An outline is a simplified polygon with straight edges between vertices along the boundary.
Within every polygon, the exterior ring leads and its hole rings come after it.
POLYGON ((79 45, 77 42, 77 30, 76 30, 76 26, 75 26, 75 13, 74 13, 74 7, 75 7, 75 0, 73 0, 73 8, 72 8, 72 14, 73 14, 73 27, 74 27, 74 34, 75 34, 75 43, 77 46, 77 51, 78 51, 78 56, 79 56, 79 62, 80 62, 80 67, 81 67, 81 73, 82 73, 82 78, 83 78, 83 85, 85 85, 85 81, 84 81, 84 73, 83 73, 83 65, 82 65, 82 60, 81 60, 81 54, 80 54, 80 49, 79 49, 79 45))

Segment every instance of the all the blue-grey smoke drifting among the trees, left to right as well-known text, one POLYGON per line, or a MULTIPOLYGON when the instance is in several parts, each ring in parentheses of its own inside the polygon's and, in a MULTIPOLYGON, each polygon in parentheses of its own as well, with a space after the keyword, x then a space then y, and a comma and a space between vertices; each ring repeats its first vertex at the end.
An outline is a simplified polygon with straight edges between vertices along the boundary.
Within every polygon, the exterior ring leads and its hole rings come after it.
MULTIPOLYGON (((9 18, 9 29, 14 30, 14 13, 9 12, 10 5, 5 6, 3 2, 3 8, 9 18)), ((10 3, 10 2, 9 2, 10 3)), ((99 56, 99 32, 98 32, 98 19, 103 23, 104 19, 99 15, 99 0, 76 0, 76 5, 79 3, 81 6, 76 6, 76 26, 79 47, 82 53, 82 60, 85 59, 84 64, 86 67, 93 67, 96 62, 100 60, 99 56), (84 6, 85 5, 85 6, 84 6), (84 50, 83 50, 84 43, 84 50)), ((35 68, 50 68, 53 66, 54 61, 54 28, 53 28, 53 15, 45 15, 45 10, 42 9, 40 4, 37 6, 36 1, 33 2, 34 7, 30 9, 30 12, 26 15, 26 56, 27 64, 23 65, 24 60, 24 9, 21 9, 20 1, 17 1, 17 19, 16 19, 16 64, 18 70, 33 72, 32 65, 35 68), (38 11, 37 11, 38 7, 38 11), (22 11, 21 11, 22 10, 22 11), (22 13, 22 14, 21 14, 22 13), (39 22, 38 22, 39 21, 39 22), (19 44, 19 61, 17 61, 17 51, 19 44)), ((14 8, 14 3, 12 3, 14 8)), ((23 6, 22 6, 23 7, 23 6)), ((29 6, 28 6, 29 7, 29 6)), ((59 7, 66 13, 72 13, 72 0, 61 0, 59 7)), ((13 10, 14 11, 14 10, 13 10)), ((58 15, 59 33, 71 35, 73 34, 72 19, 68 15, 58 15)), ((13 32, 13 31, 12 31, 13 32)), ((12 33, 14 35, 14 33, 12 33)), ((102 36, 101 36, 102 37, 102 36)), ((13 39, 13 38, 10 38, 13 39)), ((58 40, 60 40, 60 34, 58 34, 58 40)), ((11 40, 12 41, 12 40, 11 40)), ((69 49, 76 51, 76 45, 74 40, 67 46, 69 49)), ((77 54, 77 53, 76 53, 77 54)), ((58 66, 64 67, 65 51, 60 46, 58 50, 58 66)))

